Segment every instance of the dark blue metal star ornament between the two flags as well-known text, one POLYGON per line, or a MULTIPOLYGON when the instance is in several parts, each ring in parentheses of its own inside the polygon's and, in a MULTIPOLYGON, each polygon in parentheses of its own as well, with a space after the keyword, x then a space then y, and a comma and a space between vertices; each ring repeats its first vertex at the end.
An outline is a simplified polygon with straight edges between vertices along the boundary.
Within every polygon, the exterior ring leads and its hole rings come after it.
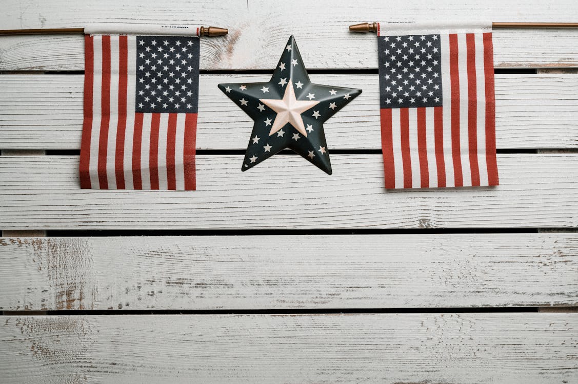
POLYGON ((331 174, 323 123, 361 90, 313 84, 291 36, 269 83, 219 84, 254 121, 242 170, 285 148, 331 174))

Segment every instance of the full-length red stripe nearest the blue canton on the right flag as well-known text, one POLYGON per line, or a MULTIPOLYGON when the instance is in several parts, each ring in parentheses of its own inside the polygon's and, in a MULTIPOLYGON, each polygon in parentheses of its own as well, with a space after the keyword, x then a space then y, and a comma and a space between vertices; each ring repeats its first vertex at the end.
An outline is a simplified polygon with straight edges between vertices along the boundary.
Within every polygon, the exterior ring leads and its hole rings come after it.
POLYGON ((458 35, 450 39, 450 85, 451 85, 451 155, 454 161, 455 187, 463 187, 462 160, 460 157, 460 75, 458 73, 458 35))

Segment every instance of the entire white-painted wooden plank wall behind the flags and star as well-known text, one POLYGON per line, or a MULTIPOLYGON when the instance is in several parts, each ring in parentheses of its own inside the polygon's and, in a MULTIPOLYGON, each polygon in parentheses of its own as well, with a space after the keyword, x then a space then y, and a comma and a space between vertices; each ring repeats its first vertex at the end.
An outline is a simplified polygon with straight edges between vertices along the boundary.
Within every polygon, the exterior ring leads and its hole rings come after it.
POLYGON ((385 191, 375 35, 347 26, 432 18, 578 3, 0 0, 1 29, 229 28, 202 39, 195 192, 81 190, 81 36, 0 37, 0 382, 578 382, 578 29, 494 31, 499 187, 385 191), (251 122, 216 84, 268 79, 236 71, 290 35, 364 90, 325 124, 332 176, 223 152, 251 122))

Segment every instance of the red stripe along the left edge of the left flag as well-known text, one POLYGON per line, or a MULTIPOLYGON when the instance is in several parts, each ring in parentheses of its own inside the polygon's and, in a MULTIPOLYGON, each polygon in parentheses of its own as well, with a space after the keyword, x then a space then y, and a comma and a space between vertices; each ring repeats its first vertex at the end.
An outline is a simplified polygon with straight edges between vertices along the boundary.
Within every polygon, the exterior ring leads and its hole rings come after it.
POLYGON ((94 38, 84 36, 84 120, 80 144, 80 188, 90 185, 90 139, 92 133, 92 87, 94 81, 94 38))

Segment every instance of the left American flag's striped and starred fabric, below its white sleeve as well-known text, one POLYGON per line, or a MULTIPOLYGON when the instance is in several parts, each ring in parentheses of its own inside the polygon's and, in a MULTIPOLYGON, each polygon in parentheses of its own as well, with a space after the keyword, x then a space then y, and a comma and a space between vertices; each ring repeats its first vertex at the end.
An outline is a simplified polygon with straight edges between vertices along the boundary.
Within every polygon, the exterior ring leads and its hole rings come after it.
POLYGON ((80 185, 195 189, 197 36, 85 36, 80 185))

